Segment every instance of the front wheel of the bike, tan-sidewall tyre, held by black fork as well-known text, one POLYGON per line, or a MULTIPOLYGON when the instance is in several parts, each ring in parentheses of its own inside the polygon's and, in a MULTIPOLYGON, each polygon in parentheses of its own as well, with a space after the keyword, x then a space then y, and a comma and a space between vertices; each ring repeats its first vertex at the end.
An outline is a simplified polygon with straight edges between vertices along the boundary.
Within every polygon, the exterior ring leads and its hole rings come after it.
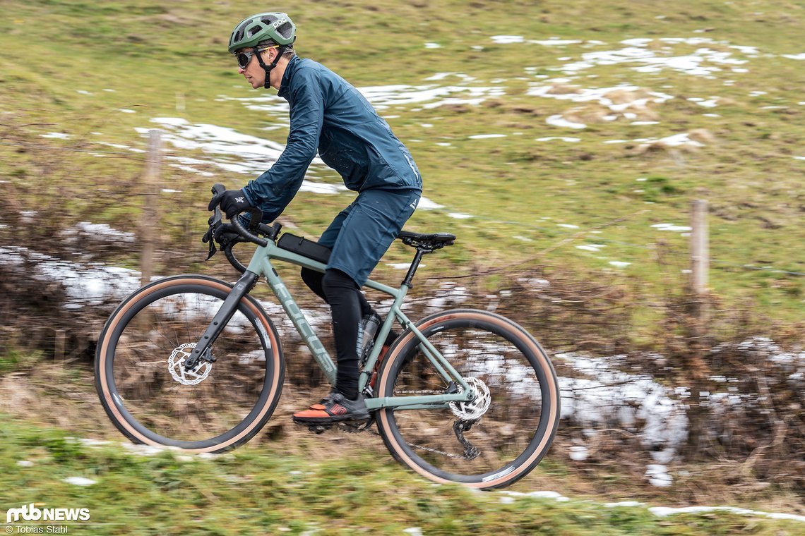
POLYGON ((231 290, 209 277, 169 277, 135 291, 109 317, 95 383, 107 415, 130 440, 221 452, 250 440, 269 419, 285 366, 277 330, 254 298, 242 298, 210 346, 212 362, 184 367, 231 290))

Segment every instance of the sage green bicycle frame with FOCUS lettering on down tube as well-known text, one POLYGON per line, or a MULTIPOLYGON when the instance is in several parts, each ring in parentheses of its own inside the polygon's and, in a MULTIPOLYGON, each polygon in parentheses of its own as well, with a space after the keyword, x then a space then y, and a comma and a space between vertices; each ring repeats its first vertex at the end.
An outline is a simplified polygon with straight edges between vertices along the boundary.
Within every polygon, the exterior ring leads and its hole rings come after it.
MULTIPOLYGON (((316 260, 301 256, 298 253, 279 248, 276 243, 269 240, 266 246, 258 246, 257 250, 254 252, 254 256, 252 256, 248 268, 246 269, 247 272, 252 272, 257 277, 266 277, 266 281, 268 282, 271 290, 275 293, 280 305, 282 305, 285 313, 287 313, 288 317, 291 319, 291 322, 293 322, 293 325, 299 332, 299 335, 302 336, 303 341, 313 354, 313 358, 316 359, 316 362, 321 367, 321 370, 324 371, 324 374, 327 376, 330 384, 335 384, 335 363, 332 362, 332 358, 324 348, 324 345, 316 335, 316 332, 313 331, 311 325, 308 323, 307 318, 304 317, 302 311, 299 309, 299 306, 296 305, 295 300, 293 297, 291 297, 291 293, 288 292, 283 280, 279 277, 279 274, 271 264, 271 260, 282 260, 291 264, 296 264, 297 266, 316 270, 316 272, 324 272, 325 265, 316 260)), ((436 346, 433 346, 433 344, 431 344, 431 342, 425 338, 419 329, 416 328, 414 322, 412 322, 405 315, 405 313, 403 313, 401 308, 403 306, 403 300, 408 293, 409 286, 403 283, 400 285, 400 288, 392 288, 374 280, 368 280, 365 286, 394 297, 394 304, 391 305, 390 313, 386 316, 386 321, 383 322, 383 325, 378 332, 377 340, 383 341, 386 339, 386 336, 391 330, 391 326, 394 325, 394 319, 396 319, 400 325, 403 326, 403 329, 411 329, 416 338, 419 339, 419 350, 423 352, 423 354, 433 364, 436 370, 439 371, 444 379, 448 383, 456 383, 456 386, 461 387, 462 390, 461 392, 443 395, 371 398, 366 399, 366 407, 368 407, 370 410, 381 407, 394 407, 397 409, 432 409, 437 407, 445 407, 445 405, 449 402, 467 402, 473 400, 475 397, 475 391, 473 388, 469 387, 469 385, 464 382, 464 378, 462 378, 456 369, 453 368, 450 362, 444 358, 440 351, 436 349, 436 346)), ((374 364, 378 361, 381 350, 382 345, 375 345, 369 354, 369 358, 367 359, 363 370, 361 370, 361 377, 358 381, 359 391, 362 392, 366 387, 366 384, 369 383, 372 371, 374 370, 374 364)))

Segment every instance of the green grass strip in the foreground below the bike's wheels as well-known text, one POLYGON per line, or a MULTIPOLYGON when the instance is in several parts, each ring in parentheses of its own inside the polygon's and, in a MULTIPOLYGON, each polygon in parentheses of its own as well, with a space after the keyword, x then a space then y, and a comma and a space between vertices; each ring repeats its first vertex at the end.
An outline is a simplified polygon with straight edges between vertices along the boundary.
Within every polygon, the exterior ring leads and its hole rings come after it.
POLYGON ((555 501, 431 485, 375 452, 322 438, 212 460, 87 446, 62 430, 0 415, 0 504, 86 508, 70 534, 798 534, 801 522, 713 512, 658 518, 645 506, 555 501), (317 452, 323 448, 325 452, 317 452), (327 454, 329 452, 329 455, 327 454), (30 467, 18 461, 32 462, 30 467), (95 481, 89 486, 68 477, 95 481))

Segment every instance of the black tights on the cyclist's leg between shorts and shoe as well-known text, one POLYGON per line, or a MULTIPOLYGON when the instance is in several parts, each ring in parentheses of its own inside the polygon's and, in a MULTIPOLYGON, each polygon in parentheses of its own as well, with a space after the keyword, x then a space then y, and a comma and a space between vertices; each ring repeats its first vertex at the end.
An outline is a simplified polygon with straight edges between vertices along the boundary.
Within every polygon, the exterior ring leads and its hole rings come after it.
POLYGON ((302 268, 302 280, 330 305, 332 334, 336 339, 336 391, 348 399, 357 399, 357 328, 361 317, 372 312, 361 288, 341 270, 324 274, 302 268))

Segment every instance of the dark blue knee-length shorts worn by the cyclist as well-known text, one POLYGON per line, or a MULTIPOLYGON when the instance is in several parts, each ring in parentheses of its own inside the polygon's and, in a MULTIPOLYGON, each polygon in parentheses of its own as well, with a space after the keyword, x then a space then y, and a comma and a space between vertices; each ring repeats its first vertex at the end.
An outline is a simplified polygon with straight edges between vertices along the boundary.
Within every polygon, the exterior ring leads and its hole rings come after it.
POLYGON ((414 213, 421 195, 420 190, 363 190, 319 239, 332 249, 327 268, 345 272, 362 287, 414 213))

